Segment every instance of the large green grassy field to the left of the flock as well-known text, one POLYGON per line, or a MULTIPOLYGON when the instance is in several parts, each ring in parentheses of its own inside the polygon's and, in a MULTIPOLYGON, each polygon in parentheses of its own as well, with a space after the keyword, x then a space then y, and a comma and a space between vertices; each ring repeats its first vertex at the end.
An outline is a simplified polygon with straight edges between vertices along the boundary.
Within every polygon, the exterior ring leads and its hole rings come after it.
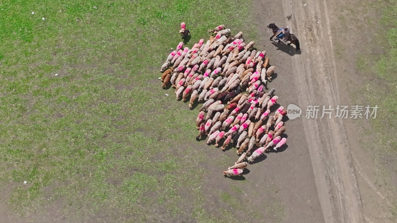
POLYGON ((69 221, 236 221, 238 186, 219 191, 219 214, 207 215, 207 154, 190 146, 197 112, 166 97, 157 77, 181 21, 188 47, 219 24, 252 39, 249 6, 1 1, 0 202, 33 220, 54 212, 69 221))

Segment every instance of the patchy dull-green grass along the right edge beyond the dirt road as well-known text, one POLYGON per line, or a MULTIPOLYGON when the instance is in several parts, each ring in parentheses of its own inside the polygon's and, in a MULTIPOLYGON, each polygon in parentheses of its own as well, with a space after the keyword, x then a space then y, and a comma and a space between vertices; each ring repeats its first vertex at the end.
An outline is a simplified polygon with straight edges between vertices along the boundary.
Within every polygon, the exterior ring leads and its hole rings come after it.
MULTIPOLYGON (((360 124, 363 132, 372 136, 370 139, 363 137, 360 143, 373 156, 377 185, 387 191, 389 200, 394 200, 393 194, 397 191, 397 1, 387 4, 370 2, 370 6, 361 8, 381 11, 383 16, 380 20, 374 20, 377 23, 368 23, 374 31, 374 43, 368 46, 373 51, 360 53, 356 57, 357 70, 367 83, 353 93, 360 95, 358 100, 353 101, 379 107, 376 118, 370 120, 369 126, 360 124)), ((396 217, 397 206, 395 203, 393 205, 390 213, 396 217)))

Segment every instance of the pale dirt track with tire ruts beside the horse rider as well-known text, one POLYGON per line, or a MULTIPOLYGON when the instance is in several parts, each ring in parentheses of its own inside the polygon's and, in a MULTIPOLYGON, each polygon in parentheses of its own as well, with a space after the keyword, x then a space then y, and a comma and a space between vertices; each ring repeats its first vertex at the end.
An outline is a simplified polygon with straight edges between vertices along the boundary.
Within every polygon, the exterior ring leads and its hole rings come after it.
MULTIPOLYGON (((302 55, 293 57, 299 106, 340 103, 327 1, 283 0, 285 14, 293 14, 292 33, 300 38, 302 55), (306 5, 304 6, 304 4, 306 5)), ((290 25, 291 26, 291 25, 290 25)), ((341 119, 306 119, 303 124, 326 223, 363 222, 361 200, 341 119)))

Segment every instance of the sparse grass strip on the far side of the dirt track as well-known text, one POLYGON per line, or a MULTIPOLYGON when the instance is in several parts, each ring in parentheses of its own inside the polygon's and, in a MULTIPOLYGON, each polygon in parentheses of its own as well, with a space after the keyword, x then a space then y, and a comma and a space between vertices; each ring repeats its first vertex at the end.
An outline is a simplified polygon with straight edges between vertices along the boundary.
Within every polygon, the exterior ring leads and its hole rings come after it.
MULTIPOLYGON (((360 87, 355 81, 351 84, 351 89, 354 89, 352 101, 359 105, 379 107, 376 118, 371 119, 369 125, 365 119, 360 124, 359 130, 363 133, 360 142, 375 162, 373 173, 376 184, 386 191, 387 198, 394 205, 391 212, 396 217, 397 1, 363 0, 356 4, 347 6, 341 13, 348 13, 346 17, 353 17, 353 21, 343 16, 339 18, 342 24, 350 27, 362 24, 361 27, 357 26, 356 33, 364 36, 359 46, 362 50, 355 58, 363 84, 360 87)), ((343 53, 340 49, 336 46, 337 57, 343 53)))

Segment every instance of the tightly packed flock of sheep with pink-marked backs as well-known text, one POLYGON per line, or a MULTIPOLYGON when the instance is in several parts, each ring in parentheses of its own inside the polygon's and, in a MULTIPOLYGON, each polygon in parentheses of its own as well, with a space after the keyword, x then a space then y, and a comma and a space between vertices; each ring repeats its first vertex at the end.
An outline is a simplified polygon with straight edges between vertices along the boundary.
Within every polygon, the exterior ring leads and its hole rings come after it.
POLYGON ((240 157, 223 174, 236 176, 247 167, 245 160, 253 162, 285 144, 281 136, 286 110, 281 106, 271 112, 278 97, 274 89, 265 92, 275 69, 266 52, 253 49, 254 41, 246 44, 242 32, 231 36, 224 25, 210 32, 213 35, 205 44, 200 39, 192 49, 182 50, 181 42, 168 55, 161 67, 162 87, 171 84, 177 100, 190 96, 191 109, 196 102, 203 103, 196 120, 197 140, 207 135, 207 144, 215 141, 216 147, 223 141, 222 150, 232 142, 240 157))

